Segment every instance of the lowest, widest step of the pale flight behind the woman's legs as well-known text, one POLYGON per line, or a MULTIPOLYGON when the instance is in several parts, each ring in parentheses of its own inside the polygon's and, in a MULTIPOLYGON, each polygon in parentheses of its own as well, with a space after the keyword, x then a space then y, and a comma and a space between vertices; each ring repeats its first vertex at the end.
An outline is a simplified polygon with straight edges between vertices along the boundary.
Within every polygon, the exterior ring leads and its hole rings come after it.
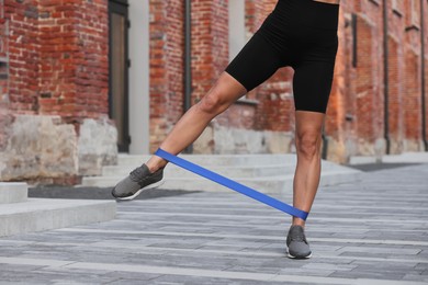
MULTIPOLYGON (((361 171, 343 168, 341 170, 324 171, 322 173, 320 186, 335 185, 339 183, 352 183, 360 180, 361 171)), ((234 178, 233 180, 267 194, 291 193, 294 174, 259 176, 259 178, 234 178)), ((85 186, 112 187, 123 176, 91 176, 83 178, 85 186)), ((190 173, 185 178, 165 178, 160 186, 166 190, 188 191, 229 191, 225 186, 209 181, 196 174, 190 173)))

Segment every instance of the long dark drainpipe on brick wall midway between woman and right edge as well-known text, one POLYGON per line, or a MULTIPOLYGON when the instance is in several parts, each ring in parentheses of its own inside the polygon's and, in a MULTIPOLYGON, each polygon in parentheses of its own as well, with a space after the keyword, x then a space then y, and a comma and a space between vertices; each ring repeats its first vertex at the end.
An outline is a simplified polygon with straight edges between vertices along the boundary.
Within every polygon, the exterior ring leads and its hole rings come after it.
POLYGON ((387 46, 387 1, 383 0, 383 82, 384 82, 384 138, 386 142, 386 155, 391 152, 391 140, 390 140, 390 116, 388 116, 388 93, 390 93, 390 82, 388 82, 388 46, 387 46))

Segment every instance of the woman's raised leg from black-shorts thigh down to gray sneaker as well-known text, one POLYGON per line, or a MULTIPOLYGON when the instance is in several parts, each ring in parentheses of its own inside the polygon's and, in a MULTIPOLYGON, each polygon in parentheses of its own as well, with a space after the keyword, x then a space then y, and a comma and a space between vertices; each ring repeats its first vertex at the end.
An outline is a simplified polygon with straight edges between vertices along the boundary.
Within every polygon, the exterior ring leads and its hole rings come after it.
MULTIPOLYGON (((262 36, 255 34, 219 76, 213 88, 176 124, 160 148, 177 155, 192 144, 211 119, 224 112, 247 91, 271 77, 281 66, 281 58, 262 36)), ((167 161, 153 156, 133 170, 112 190, 120 200, 133 200, 146 189, 162 183, 167 161)))

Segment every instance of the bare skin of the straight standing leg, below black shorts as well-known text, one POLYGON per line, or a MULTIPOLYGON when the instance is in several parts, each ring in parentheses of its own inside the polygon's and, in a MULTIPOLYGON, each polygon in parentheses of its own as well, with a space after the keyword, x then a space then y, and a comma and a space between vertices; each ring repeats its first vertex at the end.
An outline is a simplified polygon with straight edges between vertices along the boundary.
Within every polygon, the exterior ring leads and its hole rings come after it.
MULTIPOLYGON (((325 114, 317 112, 295 112, 295 145, 297 166, 293 183, 294 207, 309 212, 319 184, 320 144, 325 114)), ((293 225, 305 221, 293 217, 293 225)))

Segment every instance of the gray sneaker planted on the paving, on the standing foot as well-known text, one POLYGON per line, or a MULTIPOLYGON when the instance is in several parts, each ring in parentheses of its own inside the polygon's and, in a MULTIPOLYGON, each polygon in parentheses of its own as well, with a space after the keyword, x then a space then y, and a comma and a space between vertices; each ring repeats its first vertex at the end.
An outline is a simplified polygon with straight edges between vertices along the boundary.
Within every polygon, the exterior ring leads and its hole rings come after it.
POLYGON ((302 226, 291 226, 286 237, 286 247, 291 259, 308 259, 312 256, 309 243, 307 243, 302 226))

